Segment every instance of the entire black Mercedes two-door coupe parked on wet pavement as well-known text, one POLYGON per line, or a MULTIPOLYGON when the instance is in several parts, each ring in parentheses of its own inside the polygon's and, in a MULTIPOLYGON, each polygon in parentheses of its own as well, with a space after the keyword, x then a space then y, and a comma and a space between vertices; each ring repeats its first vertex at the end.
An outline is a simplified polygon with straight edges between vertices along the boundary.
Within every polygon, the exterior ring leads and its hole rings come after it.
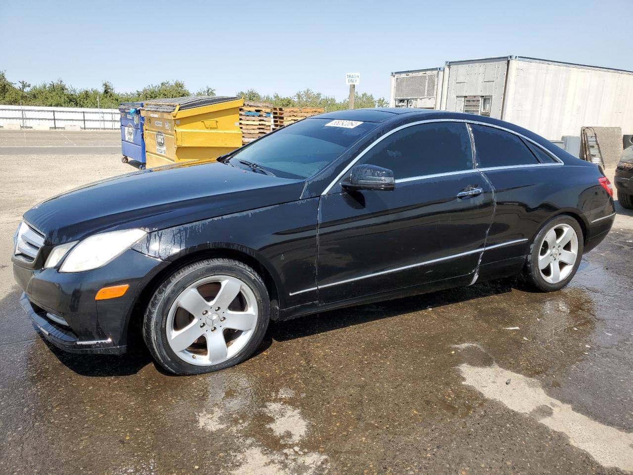
POLYGON ((610 230, 611 196, 596 165, 512 124, 339 111, 44 201, 13 269, 54 345, 123 353, 138 324, 159 364, 194 374, 249 357, 271 319, 518 274, 558 290, 610 230))

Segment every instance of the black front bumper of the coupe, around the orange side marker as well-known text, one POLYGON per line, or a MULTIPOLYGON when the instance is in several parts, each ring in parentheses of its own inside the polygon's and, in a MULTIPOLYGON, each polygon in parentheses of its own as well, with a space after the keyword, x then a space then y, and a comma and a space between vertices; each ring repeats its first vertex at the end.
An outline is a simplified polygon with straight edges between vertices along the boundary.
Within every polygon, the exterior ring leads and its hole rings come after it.
POLYGON ((53 345, 73 353, 121 354, 142 290, 166 265, 127 250, 104 267, 75 274, 30 269, 14 259, 13 276, 24 291, 20 304, 53 345), (130 286, 125 295, 95 300, 99 289, 120 284, 130 286))

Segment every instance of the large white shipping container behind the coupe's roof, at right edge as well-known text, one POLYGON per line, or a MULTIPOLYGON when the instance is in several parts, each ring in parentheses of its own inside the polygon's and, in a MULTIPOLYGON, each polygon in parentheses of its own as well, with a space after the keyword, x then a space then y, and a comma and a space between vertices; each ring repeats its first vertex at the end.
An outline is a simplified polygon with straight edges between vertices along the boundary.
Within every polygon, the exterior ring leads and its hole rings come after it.
POLYGON ((549 140, 580 128, 633 132, 633 72, 503 56, 448 61, 440 108, 487 115, 549 140))

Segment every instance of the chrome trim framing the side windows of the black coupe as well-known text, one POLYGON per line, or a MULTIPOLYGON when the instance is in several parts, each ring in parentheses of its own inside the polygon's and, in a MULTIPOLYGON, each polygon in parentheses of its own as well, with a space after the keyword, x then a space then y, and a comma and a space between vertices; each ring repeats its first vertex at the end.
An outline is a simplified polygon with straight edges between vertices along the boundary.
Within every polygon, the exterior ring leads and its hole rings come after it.
MULTIPOLYGON (((360 160, 361 158, 363 158, 363 156, 365 156, 365 154, 370 151, 372 148, 374 148, 377 144, 379 144, 382 140, 384 140, 385 138, 391 136, 391 134, 395 134, 396 132, 398 132, 399 130, 402 129, 406 129, 407 127, 413 127, 414 125, 420 125, 420 124, 433 124, 434 122, 463 122, 464 124, 477 124, 477 125, 484 125, 486 127, 492 127, 492 129, 498 129, 498 130, 503 130, 505 132, 508 132, 510 134, 513 134, 517 137, 520 137, 521 139, 527 140, 530 143, 536 145, 537 147, 541 148, 542 151, 544 151, 545 153, 547 153, 548 155, 551 155, 558 163, 534 163, 533 165, 508 165, 505 167, 488 167, 488 168, 479 168, 477 167, 477 163, 475 161, 475 158, 473 156, 473 170, 482 170, 482 171, 486 171, 486 170, 502 170, 502 169, 508 169, 508 168, 525 168, 525 167, 551 167, 554 165, 565 165, 565 163, 558 158, 558 156, 556 156, 554 153, 552 153, 551 151, 549 151, 548 149, 544 148, 544 146, 542 146, 541 144, 535 142, 534 140, 530 139, 529 137, 524 136, 523 134, 521 134, 520 132, 515 132, 515 130, 511 130, 511 129, 507 129, 506 127, 501 127, 501 125, 496 125, 496 124, 489 124, 487 122, 480 122, 479 120, 469 120, 469 119, 426 119, 426 120, 417 120, 416 122, 410 122, 410 124, 404 124, 401 125, 400 127, 396 127, 396 129, 393 130, 389 130, 389 132, 387 132, 386 134, 380 136, 379 138, 377 138, 375 141, 373 141, 371 144, 369 144, 369 146, 363 150, 361 153, 358 154, 358 156, 356 156, 356 158, 354 158, 354 160, 352 160, 351 162, 348 163, 348 165, 343 168, 343 170, 341 171, 341 173, 339 173, 336 178, 334 180, 332 180, 332 182, 330 182, 330 184, 325 187, 325 189, 323 190, 323 192, 321 193, 321 196, 325 196, 326 194, 329 193, 329 191, 336 185, 338 184, 342 177, 349 171, 349 169, 351 167, 354 166, 354 164, 356 162, 358 162, 358 160, 360 160)), ((474 141, 474 137, 472 136, 472 130, 470 130, 470 127, 467 127, 468 129, 468 133, 470 134, 470 141, 471 141, 471 146, 473 149, 473 155, 475 154, 475 141, 474 141)), ((535 157, 536 158, 536 157, 535 157)), ((470 171, 470 170, 465 170, 465 171, 470 171)), ((446 174, 436 174, 436 176, 444 176, 444 175, 451 175, 453 174, 453 172, 447 172, 446 174)), ((407 180, 406 178, 401 178, 400 180, 407 180)), ((398 182, 398 180, 396 180, 396 183, 398 182)))

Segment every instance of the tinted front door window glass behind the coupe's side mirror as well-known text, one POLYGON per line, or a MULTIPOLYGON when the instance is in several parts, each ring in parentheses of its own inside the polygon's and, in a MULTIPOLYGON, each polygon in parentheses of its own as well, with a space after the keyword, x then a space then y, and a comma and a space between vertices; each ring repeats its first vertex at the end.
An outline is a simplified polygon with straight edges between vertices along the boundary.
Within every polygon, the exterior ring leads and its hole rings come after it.
POLYGON ((393 170, 396 179, 469 170, 472 149, 466 124, 437 122, 406 127, 386 137, 359 163, 393 170))

